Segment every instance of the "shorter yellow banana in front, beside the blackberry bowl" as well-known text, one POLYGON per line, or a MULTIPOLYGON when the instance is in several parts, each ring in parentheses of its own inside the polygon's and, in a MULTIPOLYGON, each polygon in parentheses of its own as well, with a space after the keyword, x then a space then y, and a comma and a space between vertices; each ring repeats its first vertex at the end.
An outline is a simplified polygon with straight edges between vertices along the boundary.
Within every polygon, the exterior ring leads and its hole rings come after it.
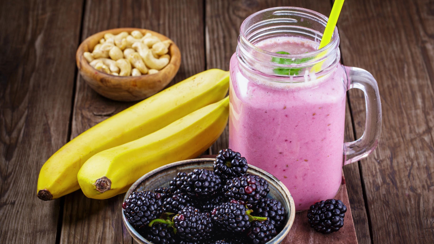
POLYGON ((77 177, 89 198, 105 199, 126 192, 147 172, 199 156, 226 127, 229 97, 203 107, 138 140, 95 154, 77 177))

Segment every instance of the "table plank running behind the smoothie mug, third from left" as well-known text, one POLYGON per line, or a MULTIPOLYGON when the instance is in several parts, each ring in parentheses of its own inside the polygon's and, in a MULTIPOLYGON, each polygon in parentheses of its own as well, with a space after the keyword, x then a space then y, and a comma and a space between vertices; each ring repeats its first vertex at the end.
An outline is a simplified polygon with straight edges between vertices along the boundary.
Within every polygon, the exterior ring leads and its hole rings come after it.
MULTIPOLYGON (((206 6, 206 56, 207 69, 221 68, 229 70, 229 61, 237 47, 237 38, 240 33, 240 25, 247 16, 259 10, 269 7, 293 6, 315 10, 328 16, 331 5, 328 1, 207 1, 206 6)), ((210 154, 228 146, 228 127, 223 134, 210 147, 210 154)), ((354 138, 351 116, 348 110, 345 118, 345 141, 354 138)), ((350 164, 344 167, 347 180, 349 200, 353 208, 353 217, 359 243, 370 242, 368 219, 362 194, 358 164, 350 164), (353 207, 354 206, 354 207, 353 207)))

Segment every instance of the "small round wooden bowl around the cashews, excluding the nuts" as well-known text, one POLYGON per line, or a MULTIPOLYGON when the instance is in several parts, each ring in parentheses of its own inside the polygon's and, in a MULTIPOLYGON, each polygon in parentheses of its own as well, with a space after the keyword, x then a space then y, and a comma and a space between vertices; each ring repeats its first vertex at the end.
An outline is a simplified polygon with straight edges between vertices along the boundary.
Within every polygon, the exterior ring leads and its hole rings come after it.
POLYGON ((118 28, 108 29, 86 38, 77 49, 76 61, 79 72, 86 83, 96 92, 106 98, 116 101, 138 101, 152 96, 161 91, 174 78, 181 65, 181 52, 178 46, 172 41, 168 54, 171 56, 170 62, 158 73, 141 76, 115 76, 96 70, 89 65, 89 62, 83 57, 84 52, 92 52, 99 40, 104 37, 105 33, 114 35, 123 31, 131 33, 133 30, 139 30, 143 35, 151 33, 157 36, 161 41, 169 39, 166 36, 148 29, 138 28, 118 28))

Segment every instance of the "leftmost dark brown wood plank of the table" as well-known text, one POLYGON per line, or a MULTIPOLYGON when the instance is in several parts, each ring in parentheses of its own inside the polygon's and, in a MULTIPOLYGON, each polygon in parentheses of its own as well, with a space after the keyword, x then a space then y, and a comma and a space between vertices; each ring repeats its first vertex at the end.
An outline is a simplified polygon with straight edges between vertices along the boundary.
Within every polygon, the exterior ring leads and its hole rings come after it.
POLYGON ((54 244, 60 200, 36 197, 68 141, 82 1, 0 2, 0 243, 54 244))

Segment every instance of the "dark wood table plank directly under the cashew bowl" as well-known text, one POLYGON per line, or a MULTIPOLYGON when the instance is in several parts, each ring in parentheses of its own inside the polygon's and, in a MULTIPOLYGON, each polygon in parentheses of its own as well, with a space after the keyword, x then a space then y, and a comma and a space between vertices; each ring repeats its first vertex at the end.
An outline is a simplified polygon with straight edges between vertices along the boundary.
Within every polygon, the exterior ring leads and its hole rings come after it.
MULTIPOLYGON (((171 38, 182 62, 170 85, 204 71, 202 1, 87 1, 82 39, 105 29, 138 27, 171 38)), ((134 103, 103 98, 77 78, 71 138, 134 103)), ((81 191, 66 195, 61 243, 132 243, 122 227, 123 194, 106 200, 86 198, 81 191)))

